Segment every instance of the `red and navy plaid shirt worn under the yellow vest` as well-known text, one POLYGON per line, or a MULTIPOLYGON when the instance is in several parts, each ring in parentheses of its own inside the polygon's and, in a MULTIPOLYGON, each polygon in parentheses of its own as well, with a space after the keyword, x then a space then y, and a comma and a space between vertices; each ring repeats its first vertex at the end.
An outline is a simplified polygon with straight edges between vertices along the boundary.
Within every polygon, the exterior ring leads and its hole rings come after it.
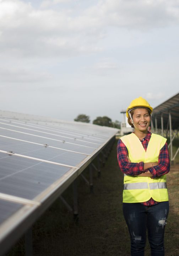
MULTIPOLYGON (((150 138, 151 138, 151 133, 148 132, 146 137, 141 140, 141 143, 145 151, 147 150, 147 146, 150 138)), ((126 175, 136 176, 143 172, 150 171, 151 174, 153 175, 153 177, 151 178, 156 178, 164 174, 167 174, 170 170, 170 158, 169 158, 167 143, 160 150, 160 153, 158 156, 158 165, 153 166, 147 170, 143 170, 144 162, 139 162, 139 163, 129 162, 128 149, 126 148, 125 144, 122 142, 121 139, 119 139, 118 141, 117 154, 118 154, 118 163, 119 163, 120 170, 126 175)), ((144 204, 145 206, 151 206, 157 203, 158 202, 154 201, 153 198, 151 198, 147 202, 142 202, 142 204, 144 204)))

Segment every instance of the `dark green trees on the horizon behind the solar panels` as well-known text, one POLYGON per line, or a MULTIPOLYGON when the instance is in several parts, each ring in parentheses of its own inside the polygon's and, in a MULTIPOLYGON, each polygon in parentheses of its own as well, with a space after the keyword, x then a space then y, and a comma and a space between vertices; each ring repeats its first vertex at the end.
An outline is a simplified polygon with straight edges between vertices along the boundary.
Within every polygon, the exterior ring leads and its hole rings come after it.
MULTIPOLYGON (((89 116, 87 116, 86 114, 79 114, 74 119, 74 121, 89 123, 90 119, 89 119, 89 116)), ((107 117, 107 116, 103 116, 103 117, 98 116, 96 119, 93 120, 93 124, 97 124, 99 126, 114 127, 114 128, 120 129, 120 122, 118 120, 115 120, 115 122, 112 122, 112 119, 107 117)))

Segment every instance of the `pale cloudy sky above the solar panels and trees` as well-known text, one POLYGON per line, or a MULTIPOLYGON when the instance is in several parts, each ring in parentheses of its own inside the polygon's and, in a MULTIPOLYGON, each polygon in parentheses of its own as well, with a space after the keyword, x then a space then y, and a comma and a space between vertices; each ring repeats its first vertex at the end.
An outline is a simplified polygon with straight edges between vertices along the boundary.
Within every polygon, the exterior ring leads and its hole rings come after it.
POLYGON ((0 0, 0 110, 73 121, 179 91, 179 0, 0 0))

